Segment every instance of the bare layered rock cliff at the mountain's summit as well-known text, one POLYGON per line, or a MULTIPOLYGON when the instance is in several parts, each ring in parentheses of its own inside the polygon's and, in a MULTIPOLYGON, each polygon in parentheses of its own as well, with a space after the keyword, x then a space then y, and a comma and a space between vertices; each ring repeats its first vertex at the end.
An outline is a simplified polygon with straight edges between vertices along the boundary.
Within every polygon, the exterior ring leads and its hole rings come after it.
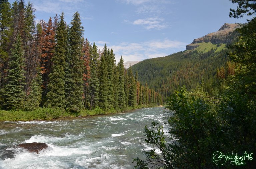
POLYGON ((228 24, 225 23, 220 27, 220 29, 217 32, 213 32, 210 34, 207 34, 201 38, 194 39, 194 41, 186 46, 186 50, 192 50, 194 48, 197 48, 199 45, 195 45, 197 43, 213 43, 213 44, 220 44, 220 43, 230 43, 234 37, 236 36, 236 33, 234 30, 236 28, 239 28, 239 24, 228 24))

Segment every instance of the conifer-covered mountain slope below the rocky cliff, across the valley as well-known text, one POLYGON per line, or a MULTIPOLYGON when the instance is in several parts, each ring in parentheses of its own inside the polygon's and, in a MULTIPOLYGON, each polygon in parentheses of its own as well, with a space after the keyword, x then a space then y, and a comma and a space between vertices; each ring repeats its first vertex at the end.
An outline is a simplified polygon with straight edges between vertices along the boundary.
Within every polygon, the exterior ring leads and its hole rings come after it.
POLYGON ((182 85, 191 90, 203 84, 204 90, 216 95, 223 90, 222 79, 234 72, 234 63, 228 56, 231 51, 227 47, 219 50, 218 45, 207 51, 187 50, 143 60, 132 68, 138 71, 139 81, 144 85, 147 83, 164 100, 182 85))

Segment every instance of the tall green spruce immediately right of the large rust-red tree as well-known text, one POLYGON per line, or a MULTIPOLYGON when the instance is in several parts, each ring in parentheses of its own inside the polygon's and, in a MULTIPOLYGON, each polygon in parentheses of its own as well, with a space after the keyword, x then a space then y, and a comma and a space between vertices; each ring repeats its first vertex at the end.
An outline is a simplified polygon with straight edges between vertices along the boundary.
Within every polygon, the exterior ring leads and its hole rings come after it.
POLYGON ((52 72, 49 74, 48 93, 46 95, 46 107, 65 108, 65 57, 67 53, 67 28, 64 21, 64 13, 60 16, 56 28, 56 46, 52 57, 52 72))

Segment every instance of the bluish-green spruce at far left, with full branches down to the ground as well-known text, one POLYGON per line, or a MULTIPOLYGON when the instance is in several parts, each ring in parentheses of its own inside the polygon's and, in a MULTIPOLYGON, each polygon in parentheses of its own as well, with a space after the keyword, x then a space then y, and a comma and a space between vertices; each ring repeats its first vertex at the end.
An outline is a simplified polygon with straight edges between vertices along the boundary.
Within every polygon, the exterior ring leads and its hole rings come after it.
POLYGON ((1 102, 4 109, 21 109, 25 98, 25 63, 19 34, 17 34, 16 42, 12 47, 6 77, 7 84, 1 90, 1 102))

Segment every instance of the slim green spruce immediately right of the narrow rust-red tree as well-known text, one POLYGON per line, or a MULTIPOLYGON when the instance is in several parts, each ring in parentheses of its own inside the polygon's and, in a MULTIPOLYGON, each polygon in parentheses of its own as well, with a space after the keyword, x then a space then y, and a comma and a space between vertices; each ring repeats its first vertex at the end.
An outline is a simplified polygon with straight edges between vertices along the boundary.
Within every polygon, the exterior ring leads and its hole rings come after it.
POLYGON ((95 106, 98 106, 99 102, 99 79, 97 75, 97 65, 99 54, 97 52, 97 46, 93 43, 93 46, 90 49, 90 70, 91 78, 89 79, 89 92, 90 92, 90 109, 93 109, 95 106))

